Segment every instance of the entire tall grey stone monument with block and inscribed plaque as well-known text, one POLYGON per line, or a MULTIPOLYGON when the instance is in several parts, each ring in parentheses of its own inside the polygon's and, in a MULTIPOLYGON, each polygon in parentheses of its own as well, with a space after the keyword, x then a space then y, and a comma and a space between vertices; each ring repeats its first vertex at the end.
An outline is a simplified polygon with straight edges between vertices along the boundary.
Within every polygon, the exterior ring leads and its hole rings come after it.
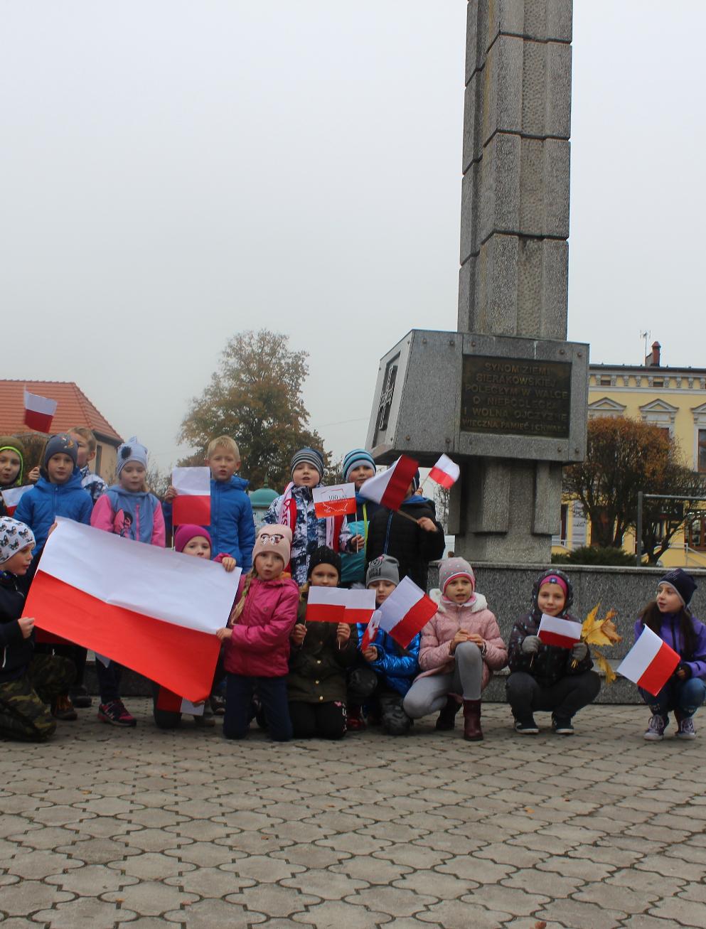
POLYGON ((568 343, 570 0, 469 0, 458 332, 381 360, 367 444, 462 465, 472 561, 547 562, 562 464, 586 443, 588 346, 568 343))

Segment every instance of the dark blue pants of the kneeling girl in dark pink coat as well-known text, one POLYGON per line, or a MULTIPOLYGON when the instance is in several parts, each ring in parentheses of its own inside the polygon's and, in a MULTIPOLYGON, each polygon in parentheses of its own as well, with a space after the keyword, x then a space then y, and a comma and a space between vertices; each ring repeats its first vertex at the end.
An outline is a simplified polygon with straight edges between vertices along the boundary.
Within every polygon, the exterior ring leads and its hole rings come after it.
POLYGON ((243 739, 252 718, 253 694, 260 698, 268 732, 276 742, 292 738, 292 722, 287 702, 287 677, 245 677, 243 674, 226 675, 226 715, 223 717, 223 735, 226 739, 243 739))

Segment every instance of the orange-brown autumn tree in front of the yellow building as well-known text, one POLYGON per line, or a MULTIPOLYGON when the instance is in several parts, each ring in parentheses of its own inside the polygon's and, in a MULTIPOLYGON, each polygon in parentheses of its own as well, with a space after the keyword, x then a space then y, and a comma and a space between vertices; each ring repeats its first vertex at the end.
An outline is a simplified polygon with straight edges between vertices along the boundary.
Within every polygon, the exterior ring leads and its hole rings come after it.
POLYGON ((625 532, 636 526, 638 491, 688 498, 645 501, 643 552, 654 564, 702 505, 706 478, 686 467, 667 430, 625 416, 592 419, 586 459, 565 468, 564 494, 582 503, 594 544, 621 548, 625 532))

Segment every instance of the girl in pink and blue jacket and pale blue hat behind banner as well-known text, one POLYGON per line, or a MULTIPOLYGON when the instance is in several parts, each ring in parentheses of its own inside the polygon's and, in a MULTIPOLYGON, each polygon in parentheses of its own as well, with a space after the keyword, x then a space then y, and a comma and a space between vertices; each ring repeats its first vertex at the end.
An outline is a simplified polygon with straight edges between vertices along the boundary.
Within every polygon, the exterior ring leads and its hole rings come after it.
MULTIPOLYGON (((145 482, 147 449, 133 436, 118 447, 118 483, 98 498, 91 526, 113 532, 124 539, 164 547, 164 520, 159 500, 145 482)), ((30 491, 32 492, 32 491, 30 491)), ((85 492, 85 491, 84 491, 85 492)), ((120 698, 123 666, 110 661, 106 667, 96 660, 100 690, 98 719, 111 726, 137 726, 137 719, 120 698)))

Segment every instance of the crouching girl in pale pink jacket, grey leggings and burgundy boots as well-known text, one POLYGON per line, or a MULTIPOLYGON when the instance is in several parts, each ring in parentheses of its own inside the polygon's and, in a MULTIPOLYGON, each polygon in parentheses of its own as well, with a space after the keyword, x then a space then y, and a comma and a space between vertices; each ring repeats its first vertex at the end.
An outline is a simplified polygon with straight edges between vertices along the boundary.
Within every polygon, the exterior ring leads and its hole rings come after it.
POLYGON ((507 649, 467 561, 442 561, 438 581, 441 589, 431 592, 438 612, 422 630, 419 647, 422 674, 407 692, 404 712, 419 719, 440 710, 437 728, 452 729, 463 701, 464 739, 480 741, 480 691, 507 663, 507 649))

